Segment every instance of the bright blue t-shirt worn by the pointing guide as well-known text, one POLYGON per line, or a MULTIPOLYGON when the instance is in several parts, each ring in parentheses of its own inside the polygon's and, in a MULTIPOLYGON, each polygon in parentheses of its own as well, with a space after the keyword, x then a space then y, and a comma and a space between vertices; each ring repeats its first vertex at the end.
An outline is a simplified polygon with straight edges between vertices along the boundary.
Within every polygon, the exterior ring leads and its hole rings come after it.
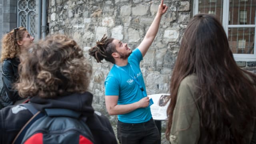
MULTIPOLYGON (((118 104, 131 104, 144 98, 140 86, 130 77, 135 76, 146 92, 142 72, 140 70, 141 60, 142 54, 140 50, 136 48, 128 57, 128 64, 126 66, 120 66, 125 72, 113 66, 105 80, 105 95, 119 96, 118 104)), ((118 115, 118 120, 125 123, 142 123, 147 122, 150 118, 152 118, 152 115, 149 106, 118 115)))

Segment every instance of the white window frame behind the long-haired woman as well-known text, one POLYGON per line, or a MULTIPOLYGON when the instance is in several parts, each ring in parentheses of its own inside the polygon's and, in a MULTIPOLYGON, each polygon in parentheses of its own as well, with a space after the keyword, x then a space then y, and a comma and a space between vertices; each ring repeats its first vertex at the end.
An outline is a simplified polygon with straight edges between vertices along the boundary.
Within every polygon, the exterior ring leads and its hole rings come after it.
MULTIPOLYGON (((223 16, 222 16, 222 26, 228 36, 228 28, 254 28, 254 54, 233 54, 236 61, 256 61, 256 24, 246 24, 246 25, 229 25, 229 0, 223 0, 223 16)), ((194 11, 193 16, 198 14, 198 0, 194 0, 194 11)), ((255 15, 256 21, 256 15, 255 15)))

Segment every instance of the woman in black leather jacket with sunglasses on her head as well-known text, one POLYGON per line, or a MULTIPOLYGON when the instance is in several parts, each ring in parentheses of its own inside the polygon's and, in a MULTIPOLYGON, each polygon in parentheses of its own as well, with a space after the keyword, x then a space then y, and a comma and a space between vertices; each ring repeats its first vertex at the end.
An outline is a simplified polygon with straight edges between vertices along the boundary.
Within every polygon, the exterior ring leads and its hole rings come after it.
POLYGON ((20 64, 20 52, 26 50, 32 44, 34 38, 26 28, 14 28, 2 38, 2 81, 3 87, 0 92, 0 109, 14 104, 22 98, 14 90, 13 83, 18 78, 18 65, 20 64))

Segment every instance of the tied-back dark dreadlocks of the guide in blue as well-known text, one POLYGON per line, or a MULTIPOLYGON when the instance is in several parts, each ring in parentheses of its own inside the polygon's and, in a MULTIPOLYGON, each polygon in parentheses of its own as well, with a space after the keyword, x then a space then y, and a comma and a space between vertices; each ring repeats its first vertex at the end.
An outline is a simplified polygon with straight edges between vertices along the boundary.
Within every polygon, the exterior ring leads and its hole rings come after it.
POLYGON ((89 54, 93 56, 97 62, 101 62, 105 59, 114 64, 115 59, 112 57, 112 53, 116 52, 116 47, 112 43, 113 40, 114 38, 108 38, 106 34, 104 34, 101 40, 96 42, 96 46, 90 48, 89 54))

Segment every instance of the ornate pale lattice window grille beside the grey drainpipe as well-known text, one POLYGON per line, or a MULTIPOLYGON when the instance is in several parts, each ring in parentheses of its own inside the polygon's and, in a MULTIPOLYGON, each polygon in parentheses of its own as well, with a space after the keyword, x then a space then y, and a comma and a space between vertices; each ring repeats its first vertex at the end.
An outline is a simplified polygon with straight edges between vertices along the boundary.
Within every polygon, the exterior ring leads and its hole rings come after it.
POLYGON ((18 0, 18 26, 24 26, 35 37, 36 34, 36 0, 18 0))

